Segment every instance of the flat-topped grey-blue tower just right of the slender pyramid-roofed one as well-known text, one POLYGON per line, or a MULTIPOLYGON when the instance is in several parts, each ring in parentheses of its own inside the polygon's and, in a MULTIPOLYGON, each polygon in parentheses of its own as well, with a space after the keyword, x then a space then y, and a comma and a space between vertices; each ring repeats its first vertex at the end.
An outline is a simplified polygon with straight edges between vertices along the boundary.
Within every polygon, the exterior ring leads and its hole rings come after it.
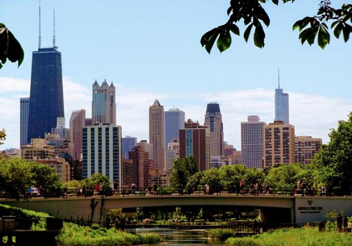
POLYGON ((177 109, 165 111, 165 149, 178 138, 179 129, 184 128, 184 112, 177 109))

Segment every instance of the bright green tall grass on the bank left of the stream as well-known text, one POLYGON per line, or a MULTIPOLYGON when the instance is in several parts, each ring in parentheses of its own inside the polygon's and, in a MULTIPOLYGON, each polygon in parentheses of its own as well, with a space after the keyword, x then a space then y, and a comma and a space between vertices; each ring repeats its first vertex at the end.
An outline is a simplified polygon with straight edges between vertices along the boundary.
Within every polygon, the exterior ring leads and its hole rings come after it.
POLYGON ((98 225, 88 227, 65 223, 56 242, 58 246, 128 246, 158 244, 163 238, 156 234, 134 235, 98 225))

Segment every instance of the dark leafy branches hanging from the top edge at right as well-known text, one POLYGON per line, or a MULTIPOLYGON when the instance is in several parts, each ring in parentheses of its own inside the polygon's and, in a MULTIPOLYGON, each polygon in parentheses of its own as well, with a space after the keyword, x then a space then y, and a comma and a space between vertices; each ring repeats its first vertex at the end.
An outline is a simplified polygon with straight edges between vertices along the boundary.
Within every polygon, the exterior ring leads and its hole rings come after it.
MULTIPOLYGON (((271 0, 276 5, 279 4, 279 1, 271 0)), ((282 0, 282 3, 294 1, 282 0)), ((231 46, 231 32, 240 36, 240 28, 236 24, 243 21, 246 26, 243 34, 246 42, 248 42, 251 31, 254 30, 254 45, 263 48, 265 45, 263 25, 266 27, 270 25, 270 18, 262 6, 266 2, 270 2, 270 0, 230 0, 230 7, 227 9, 228 21, 224 25, 206 32, 201 38, 202 46, 205 46, 207 52, 210 53, 217 39, 218 50, 220 52, 227 50, 231 46)), ((318 45, 323 49, 330 42, 327 25, 330 22, 331 30, 334 29, 334 36, 339 38, 342 32, 344 41, 347 42, 352 32, 352 26, 349 24, 352 23, 352 4, 342 4, 341 8, 335 9, 331 7, 330 0, 321 0, 317 15, 297 21, 293 25, 293 30, 298 28, 302 44, 307 41, 309 45, 312 45, 317 36, 318 45)))

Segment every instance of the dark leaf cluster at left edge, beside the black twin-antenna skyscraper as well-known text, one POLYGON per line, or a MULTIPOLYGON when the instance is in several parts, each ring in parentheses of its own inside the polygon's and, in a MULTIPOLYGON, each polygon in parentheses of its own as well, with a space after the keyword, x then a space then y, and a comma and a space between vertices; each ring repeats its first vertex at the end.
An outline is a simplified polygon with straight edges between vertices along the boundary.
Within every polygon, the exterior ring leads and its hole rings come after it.
POLYGON ((0 69, 7 59, 10 62, 18 62, 20 66, 24 59, 24 52, 12 32, 0 23, 0 69))

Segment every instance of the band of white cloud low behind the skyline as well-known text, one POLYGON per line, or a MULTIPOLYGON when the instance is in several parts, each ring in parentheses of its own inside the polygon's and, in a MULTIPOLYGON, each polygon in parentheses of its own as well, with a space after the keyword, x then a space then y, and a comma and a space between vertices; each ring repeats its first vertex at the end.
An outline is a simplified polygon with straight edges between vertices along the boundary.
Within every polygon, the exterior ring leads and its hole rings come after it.
MULTIPOLYGON (((0 82, 6 78, 0 78, 0 82)), ((20 90, 26 82, 12 80, 14 87, 6 87, 0 93, 0 128, 7 131, 7 140, 1 149, 19 147, 19 98, 29 88, 20 90)), ((241 149, 241 122, 248 115, 259 115, 261 120, 271 123, 274 120, 274 90, 253 89, 242 91, 192 93, 173 92, 155 94, 124 85, 116 85, 117 123, 122 126, 123 136, 131 135, 138 140, 148 139, 148 111, 157 98, 168 110, 174 106, 186 113, 186 119, 204 123, 207 103, 216 101, 224 123, 224 140, 241 149)), ((352 109, 352 100, 314 94, 289 93, 290 123, 295 126, 296 135, 311 135, 328 141, 331 127, 339 120, 347 118, 352 109)), ((91 117, 91 85, 86 87, 74 79, 64 78, 64 100, 67 127, 73 110, 85 109, 86 117, 91 117)))

